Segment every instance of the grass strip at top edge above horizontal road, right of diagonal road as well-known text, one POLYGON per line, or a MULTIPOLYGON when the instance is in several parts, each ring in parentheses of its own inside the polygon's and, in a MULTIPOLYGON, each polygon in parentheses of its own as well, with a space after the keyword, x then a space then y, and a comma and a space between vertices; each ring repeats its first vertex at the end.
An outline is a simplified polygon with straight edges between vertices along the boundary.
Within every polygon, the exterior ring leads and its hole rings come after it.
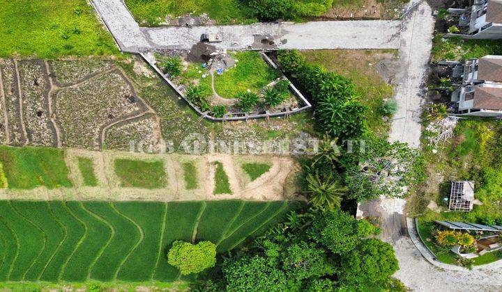
POLYGON ((145 26, 158 26, 166 15, 173 17, 195 12, 195 16, 207 13, 218 24, 252 23, 258 19, 239 0, 126 0, 137 22, 145 26))

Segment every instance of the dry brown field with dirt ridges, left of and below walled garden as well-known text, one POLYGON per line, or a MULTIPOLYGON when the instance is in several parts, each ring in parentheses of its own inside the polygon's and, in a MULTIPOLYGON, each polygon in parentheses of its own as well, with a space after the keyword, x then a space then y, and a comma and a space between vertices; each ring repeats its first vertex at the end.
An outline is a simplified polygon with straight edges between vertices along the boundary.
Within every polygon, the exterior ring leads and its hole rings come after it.
MULTIPOLYGON (((0 59, 0 97, 5 102, 0 112, 0 124, 3 125, 0 139, 7 145, 33 145, 37 141, 50 144, 49 133, 53 133, 51 145, 58 147, 128 150, 132 142, 135 147, 141 145, 144 151, 157 152, 162 149, 161 140, 164 139, 172 143, 176 152, 184 152, 180 146, 183 141, 190 141, 190 137, 204 141, 211 138, 216 143, 222 141, 229 145, 236 140, 260 145, 314 133, 310 123, 312 115, 308 112, 248 122, 200 120, 172 88, 135 56, 118 61, 50 60, 46 64, 48 76, 36 70, 40 74, 33 76, 33 80, 26 77, 26 86, 20 91, 17 80, 18 76, 19 79, 24 76, 21 70, 26 67, 24 64, 29 65, 27 68, 42 65, 38 60, 0 59), (50 85, 49 108, 45 106, 47 102, 43 102, 45 95, 40 95, 40 86, 46 84, 50 85), (31 108, 31 122, 26 118, 28 112, 21 111, 20 92, 26 97, 40 97, 26 100, 26 108, 31 108), (45 126, 47 118, 50 123, 45 126), (28 134, 37 139, 27 140, 28 134)), ((234 99, 219 100, 235 102, 234 99)), ((220 147, 215 151, 223 152, 220 147)))

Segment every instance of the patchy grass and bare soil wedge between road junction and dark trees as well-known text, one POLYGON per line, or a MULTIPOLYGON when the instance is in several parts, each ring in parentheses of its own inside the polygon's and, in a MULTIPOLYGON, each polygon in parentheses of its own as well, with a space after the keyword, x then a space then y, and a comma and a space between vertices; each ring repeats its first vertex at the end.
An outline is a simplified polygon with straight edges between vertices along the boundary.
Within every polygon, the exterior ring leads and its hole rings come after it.
POLYGON ((351 79, 360 102, 367 106, 367 121, 379 135, 390 130, 389 117, 381 112, 385 100, 392 99, 396 50, 301 51, 309 63, 321 65, 351 79))

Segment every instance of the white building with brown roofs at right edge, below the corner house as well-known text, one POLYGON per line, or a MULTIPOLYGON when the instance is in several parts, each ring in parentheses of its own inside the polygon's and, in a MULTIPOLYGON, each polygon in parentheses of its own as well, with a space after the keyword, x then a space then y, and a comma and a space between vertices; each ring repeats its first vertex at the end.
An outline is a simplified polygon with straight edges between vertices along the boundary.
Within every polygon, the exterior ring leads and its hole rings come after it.
POLYGON ((457 65, 462 86, 452 92, 457 115, 502 117, 502 56, 484 56, 457 65))

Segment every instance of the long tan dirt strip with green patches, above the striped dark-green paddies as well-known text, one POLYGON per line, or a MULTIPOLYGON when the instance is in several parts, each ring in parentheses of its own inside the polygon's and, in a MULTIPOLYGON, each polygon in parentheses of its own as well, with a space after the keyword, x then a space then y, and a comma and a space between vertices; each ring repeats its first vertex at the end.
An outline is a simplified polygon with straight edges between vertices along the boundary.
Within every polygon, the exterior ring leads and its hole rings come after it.
POLYGON ((0 161, 0 200, 293 200, 299 169, 287 156, 40 147, 0 147, 0 161))

